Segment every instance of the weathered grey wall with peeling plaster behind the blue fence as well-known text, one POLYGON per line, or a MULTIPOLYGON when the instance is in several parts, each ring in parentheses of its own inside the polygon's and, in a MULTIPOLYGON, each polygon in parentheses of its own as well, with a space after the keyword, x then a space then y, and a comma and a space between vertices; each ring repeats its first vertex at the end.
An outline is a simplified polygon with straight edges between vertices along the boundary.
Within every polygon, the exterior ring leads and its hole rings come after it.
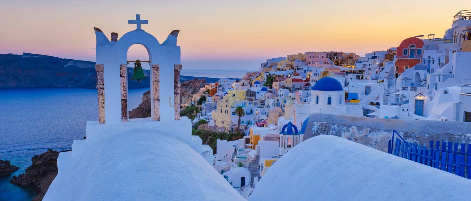
POLYGON ((330 114, 311 114, 303 141, 317 135, 335 135, 387 152, 393 130, 419 145, 428 146, 430 140, 471 144, 471 123, 330 114))

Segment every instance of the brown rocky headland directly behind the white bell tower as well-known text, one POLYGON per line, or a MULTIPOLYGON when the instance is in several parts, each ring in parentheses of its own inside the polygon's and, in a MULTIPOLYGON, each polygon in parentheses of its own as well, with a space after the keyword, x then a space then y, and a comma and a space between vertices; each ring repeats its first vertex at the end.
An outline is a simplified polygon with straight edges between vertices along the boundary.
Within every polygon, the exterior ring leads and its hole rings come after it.
MULTIPOLYGON (((205 79, 191 79, 181 83, 181 100, 190 100, 192 94, 197 93, 206 83, 205 79)), ((184 101, 182 101, 184 103, 184 101)), ((150 90, 142 95, 142 102, 137 108, 129 111, 129 118, 150 117, 150 90)))

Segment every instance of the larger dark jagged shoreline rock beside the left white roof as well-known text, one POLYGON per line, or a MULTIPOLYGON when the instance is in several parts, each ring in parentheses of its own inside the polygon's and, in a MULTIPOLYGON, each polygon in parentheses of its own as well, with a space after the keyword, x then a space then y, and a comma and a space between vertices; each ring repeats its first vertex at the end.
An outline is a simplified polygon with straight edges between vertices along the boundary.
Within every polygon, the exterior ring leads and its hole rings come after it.
POLYGON ((17 186, 30 187, 38 193, 33 201, 41 201, 48 191, 49 185, 57 175, 57 157, 59 152, 49 149, 47 152, 32 157, 32 165, 24 174, 13 176, 10 183, 17 186))

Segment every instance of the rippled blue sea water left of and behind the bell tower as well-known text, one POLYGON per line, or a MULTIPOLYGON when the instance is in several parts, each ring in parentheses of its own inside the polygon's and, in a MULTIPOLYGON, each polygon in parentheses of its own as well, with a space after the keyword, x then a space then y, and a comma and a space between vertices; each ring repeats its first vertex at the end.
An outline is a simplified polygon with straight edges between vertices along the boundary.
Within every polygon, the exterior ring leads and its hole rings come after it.
MULTIPOLYGON (((138 107, 146 88, 130 89, 129 110, 138 107)), ((0 89, 0 159, 20 169, 0 177, 0 201, 30 201, 31 189, 9 183, 24 173, 34 155, 49 148, 70 149, 86 135, 87 121, 98 120, 96 89, 0 89)))

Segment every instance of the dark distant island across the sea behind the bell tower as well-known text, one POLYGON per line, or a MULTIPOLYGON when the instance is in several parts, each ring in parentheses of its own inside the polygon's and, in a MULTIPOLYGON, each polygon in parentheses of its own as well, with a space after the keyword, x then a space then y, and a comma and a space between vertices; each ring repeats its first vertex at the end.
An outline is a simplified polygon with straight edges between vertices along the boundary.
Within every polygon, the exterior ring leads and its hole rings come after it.
MULTIPOLYGON (((128 68, 128 77, 133 69, 128 68)), ((149 70, 144 70, 148 77, 149 70)), ((219 78, 180 76, 180 81, 205 79, 214 83, 219 78)), ((23 53, 0 54, 0 88, 72 87, 94 89, 97 84, 95 62, 63 59, 54 56, 23 53)), ((150 82, 129 79, 129 88, 149 87, 150 82)))

